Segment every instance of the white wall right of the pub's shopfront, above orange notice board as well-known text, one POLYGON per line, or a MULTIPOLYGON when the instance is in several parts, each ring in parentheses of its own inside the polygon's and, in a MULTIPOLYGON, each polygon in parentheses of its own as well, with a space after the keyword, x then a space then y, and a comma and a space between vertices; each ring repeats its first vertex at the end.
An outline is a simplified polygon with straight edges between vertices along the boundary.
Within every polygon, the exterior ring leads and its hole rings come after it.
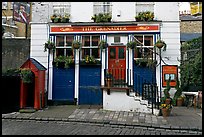
MULTIPOLYGON (((161 52, 162 59, 167 65, 180 65, 180 21, 179 21, 179 4, 178 2, 156 2, 155 3, 155 19, 162 20, 161 23, 161 39, 167 44, 166 51, 161 52), (168 16, 167 16, 168 15, 168 16)), ((159 61, 159 57, 157 56, 159 61)), ((162 65, 166 65, 162 62, 162 65)), ((162 68, 162 67, 161 67, 162 68)), ((156 80, 158 90, 160 89, 160 67, 156 68, 156 80)), ((178 69, 179 72, 179 69, 178 69)), ((178 73, 178 77, 180 75, 178 73)), ((170 95, 173 97, 175 88, 171 88, 170 95)), ((163 92, 161 92, 161 95, 163 92)))

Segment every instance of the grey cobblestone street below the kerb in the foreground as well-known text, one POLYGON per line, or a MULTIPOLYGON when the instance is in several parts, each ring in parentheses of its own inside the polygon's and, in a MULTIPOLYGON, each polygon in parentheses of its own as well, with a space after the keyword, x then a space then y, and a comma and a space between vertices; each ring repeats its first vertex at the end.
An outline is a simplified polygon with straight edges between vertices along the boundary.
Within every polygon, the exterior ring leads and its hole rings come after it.
POLYGON ((202 135, 202 132, 80 122, 2 119, 2 135, 202 135))

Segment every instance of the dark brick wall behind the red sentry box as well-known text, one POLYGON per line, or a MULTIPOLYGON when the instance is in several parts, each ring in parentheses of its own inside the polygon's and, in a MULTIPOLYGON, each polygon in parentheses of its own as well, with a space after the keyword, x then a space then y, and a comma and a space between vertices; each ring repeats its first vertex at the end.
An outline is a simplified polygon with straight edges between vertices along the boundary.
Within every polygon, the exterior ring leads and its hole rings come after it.
POLYGON ((30 39, 2 39, 2 72, 19 68, 30 56, 30 39))

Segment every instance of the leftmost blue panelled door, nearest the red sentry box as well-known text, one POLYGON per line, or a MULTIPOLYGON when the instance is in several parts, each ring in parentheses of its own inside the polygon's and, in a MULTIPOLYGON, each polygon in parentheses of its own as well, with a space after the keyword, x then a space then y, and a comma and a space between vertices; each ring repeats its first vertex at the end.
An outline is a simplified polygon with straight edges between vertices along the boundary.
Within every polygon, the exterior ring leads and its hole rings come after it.
POLYGON ((74 101, 74 67, 53 68, 53 100, 74 101))

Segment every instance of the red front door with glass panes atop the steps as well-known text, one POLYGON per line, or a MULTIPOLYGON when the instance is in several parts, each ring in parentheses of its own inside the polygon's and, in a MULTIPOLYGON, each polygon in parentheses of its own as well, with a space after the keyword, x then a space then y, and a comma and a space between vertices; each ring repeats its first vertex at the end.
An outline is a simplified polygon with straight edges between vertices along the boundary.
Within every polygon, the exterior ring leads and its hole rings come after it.
POLYGON ((108 69, 115 80, 125 80, 125 50, 125 46, 109 46, 108 48, 108 69))

